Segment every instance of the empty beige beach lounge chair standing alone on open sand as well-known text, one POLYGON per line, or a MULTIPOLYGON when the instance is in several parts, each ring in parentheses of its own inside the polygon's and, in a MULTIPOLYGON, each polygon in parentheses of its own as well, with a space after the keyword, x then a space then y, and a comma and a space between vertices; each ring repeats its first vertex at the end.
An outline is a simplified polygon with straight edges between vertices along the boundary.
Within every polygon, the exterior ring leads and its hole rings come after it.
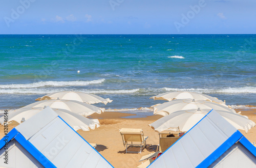
POLYGON ((144 133, 142 129, 134 129, 134 128, 122 128, 119 130, 122 140, 123 140, 123 145, 126 145, 126 153, 127 152, 136 152, 136 151, 127 151, 127 148, 130 146, 140 146, 140 152, 136 153, 141 153, 141 148, 142 146, 145 147, 146 145, 146 139, 148 136, 144 136, 144 133), (131 143, 131 144, 129 144, 131 143), (137 144, 133 144, 137 143, 137 144))

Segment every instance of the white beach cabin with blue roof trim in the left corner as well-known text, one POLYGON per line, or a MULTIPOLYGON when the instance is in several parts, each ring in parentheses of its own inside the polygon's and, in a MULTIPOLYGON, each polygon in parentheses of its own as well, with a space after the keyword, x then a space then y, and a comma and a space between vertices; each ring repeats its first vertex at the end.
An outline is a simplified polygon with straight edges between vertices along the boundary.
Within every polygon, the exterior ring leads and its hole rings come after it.
POLYGON ((1 139, 0 167, 113 166, 47 107, 1 139))

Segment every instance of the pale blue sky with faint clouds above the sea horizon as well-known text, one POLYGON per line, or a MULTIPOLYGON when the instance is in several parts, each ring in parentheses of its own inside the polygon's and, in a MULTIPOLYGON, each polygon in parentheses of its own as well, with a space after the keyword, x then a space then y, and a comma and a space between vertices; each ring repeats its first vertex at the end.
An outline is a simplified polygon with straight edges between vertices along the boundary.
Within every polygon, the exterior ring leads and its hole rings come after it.
POLYGON ((255 0, 0 0, 0 34, 255 34, 255 0))

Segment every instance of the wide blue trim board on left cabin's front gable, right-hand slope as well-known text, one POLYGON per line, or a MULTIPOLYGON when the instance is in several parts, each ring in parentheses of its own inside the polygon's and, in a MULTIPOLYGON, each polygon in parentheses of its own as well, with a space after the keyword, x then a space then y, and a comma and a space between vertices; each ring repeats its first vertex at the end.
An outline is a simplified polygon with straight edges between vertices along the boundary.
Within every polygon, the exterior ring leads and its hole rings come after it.
POLYGON ((56 167, 50 160, 48 160, 45 155, 38 151, 34 145, 32 145, 27 139, 18 133, 15 136, 16 141, 22 145, 38 162, 40 162, 45 167, 56 167))

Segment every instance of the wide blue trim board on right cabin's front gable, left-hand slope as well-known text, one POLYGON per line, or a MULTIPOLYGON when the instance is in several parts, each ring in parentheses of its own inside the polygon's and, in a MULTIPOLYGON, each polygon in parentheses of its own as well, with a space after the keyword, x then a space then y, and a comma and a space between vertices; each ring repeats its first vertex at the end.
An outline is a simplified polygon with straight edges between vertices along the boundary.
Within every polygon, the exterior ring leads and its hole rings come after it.
POLYGON ((217 148, 207 158, 205 158, 197 167, 208 167, 224 152, 226 152, 234 143, 239 141, 241 137, 243 137, 243 134, 239 130, 234 132, 219 148, 217 148))

